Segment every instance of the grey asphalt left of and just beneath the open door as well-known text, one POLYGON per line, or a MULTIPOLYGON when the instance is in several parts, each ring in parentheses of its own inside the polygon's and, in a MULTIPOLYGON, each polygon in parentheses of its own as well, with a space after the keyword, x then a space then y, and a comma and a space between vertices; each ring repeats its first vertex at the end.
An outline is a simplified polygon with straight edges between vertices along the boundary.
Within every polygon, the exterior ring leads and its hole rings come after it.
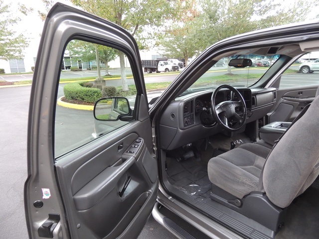
MULTIPOLYGON (((27 239, 23 186, 30 86, 0 88, 0 238, 27 239)), ((174 238, 151 216, 139 239, 174 238)))

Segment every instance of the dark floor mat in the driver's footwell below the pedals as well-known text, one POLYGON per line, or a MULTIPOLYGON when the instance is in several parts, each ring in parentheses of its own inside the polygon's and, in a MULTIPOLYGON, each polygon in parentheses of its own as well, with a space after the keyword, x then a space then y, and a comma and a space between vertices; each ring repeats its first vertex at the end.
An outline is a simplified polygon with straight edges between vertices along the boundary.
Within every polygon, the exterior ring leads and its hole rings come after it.
POLYGON ((211 183, 208 179, 207 168, 201 165, 199 158, 189 158, 177 161, 167 159, 168 182, 178 190, 191 196, 194 200, 209 199, 211 183))

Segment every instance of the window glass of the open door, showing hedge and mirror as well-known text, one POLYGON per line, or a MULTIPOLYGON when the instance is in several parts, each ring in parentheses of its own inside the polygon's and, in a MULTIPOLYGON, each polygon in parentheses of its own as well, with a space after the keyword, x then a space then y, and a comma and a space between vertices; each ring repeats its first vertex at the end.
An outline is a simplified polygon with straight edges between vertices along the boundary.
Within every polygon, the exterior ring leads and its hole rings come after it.
POLYGON ((132 122, 137 96, 127 56, 112 47, 72 40, 61 66, 55 158, 132 122))

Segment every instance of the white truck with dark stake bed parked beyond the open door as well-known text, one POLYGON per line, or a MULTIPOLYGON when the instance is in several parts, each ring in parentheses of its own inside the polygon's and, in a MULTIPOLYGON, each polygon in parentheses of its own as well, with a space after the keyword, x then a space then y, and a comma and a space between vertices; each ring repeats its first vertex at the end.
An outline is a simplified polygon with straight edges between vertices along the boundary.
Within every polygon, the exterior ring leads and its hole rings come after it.
POLYGON ((179 71, 179 66, 169 64, 166 60, 142 60, 142 67, 147 73, 179 71))

